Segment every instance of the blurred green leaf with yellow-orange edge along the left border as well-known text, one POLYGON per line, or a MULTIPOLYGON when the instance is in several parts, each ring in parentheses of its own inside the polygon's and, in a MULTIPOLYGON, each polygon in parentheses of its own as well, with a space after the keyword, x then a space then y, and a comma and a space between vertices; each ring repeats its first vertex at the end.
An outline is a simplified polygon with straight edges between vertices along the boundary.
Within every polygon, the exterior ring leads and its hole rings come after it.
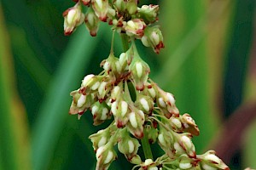
POLYGON ((26 113, 15 88, 15 74, 0 3, 0 159, 3 169, 30 169, 26 113))

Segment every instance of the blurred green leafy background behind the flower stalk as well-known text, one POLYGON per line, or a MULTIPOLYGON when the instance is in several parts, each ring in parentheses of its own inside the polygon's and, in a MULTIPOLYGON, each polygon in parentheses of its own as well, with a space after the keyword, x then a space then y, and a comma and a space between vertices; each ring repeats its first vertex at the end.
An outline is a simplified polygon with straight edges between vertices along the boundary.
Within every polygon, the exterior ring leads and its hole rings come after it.
MULTIPOLYGON (((160 4, 166 48, 156 55, 138 42, 139 53, 200 127, 197 153, 217 150, 231 169, 256 168, 256 2, 140 2, 160 4)), ((0 1, 0 170, 95 169, 88 136, 104 125, 93 127, 90 112, 69 116, 69 93, 101 71, 111 31, 102 24, 90 37, 80 26, 65 37, 61 14, 73 4, 0 1)), ((122 52, 119 37, 114 50, 122 52)), ((131 166, 119 155, 110 169, 121 168, 131 166)))

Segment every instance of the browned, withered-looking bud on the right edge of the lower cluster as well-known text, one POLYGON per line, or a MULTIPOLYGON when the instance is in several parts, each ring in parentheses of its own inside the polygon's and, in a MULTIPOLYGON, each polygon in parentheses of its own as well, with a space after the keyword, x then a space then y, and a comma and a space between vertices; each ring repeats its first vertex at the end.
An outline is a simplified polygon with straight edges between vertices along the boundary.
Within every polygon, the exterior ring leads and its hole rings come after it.
POLYGON ((188 113, 183 114, 182 122, 183 122, 183 127, 185 128, 184 129, 185 132, 191 133, 195 136, 199 135, 199 128, 195 124, 194 119, 188 113))

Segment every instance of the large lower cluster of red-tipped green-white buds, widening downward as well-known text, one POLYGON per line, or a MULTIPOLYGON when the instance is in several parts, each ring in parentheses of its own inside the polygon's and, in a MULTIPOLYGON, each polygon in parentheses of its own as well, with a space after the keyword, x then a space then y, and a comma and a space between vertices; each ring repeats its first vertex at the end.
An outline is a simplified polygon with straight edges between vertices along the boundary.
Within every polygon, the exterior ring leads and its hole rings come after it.
POLYGON ((195 121, 187 113, 180 115, 174 96, 148 79, 150 69, 137 53, 135 43, 119 58, 111 52, 101 65, 101 74, 84 77, 81 87, 71 93, 69 112, 80 117, 90 109, 95 125, 113 117, 108 128, 90 136, 96 150, 96 169, 108 169, 117 158, 115 144, 140 169, 228 169, 212 151, 196 155, 191 141, 199 135, 195 121), (165 150, 164 161, 143 162, 137 155, 138 139, 143 139, 145 132, 150 144, 158 142, 165 150))

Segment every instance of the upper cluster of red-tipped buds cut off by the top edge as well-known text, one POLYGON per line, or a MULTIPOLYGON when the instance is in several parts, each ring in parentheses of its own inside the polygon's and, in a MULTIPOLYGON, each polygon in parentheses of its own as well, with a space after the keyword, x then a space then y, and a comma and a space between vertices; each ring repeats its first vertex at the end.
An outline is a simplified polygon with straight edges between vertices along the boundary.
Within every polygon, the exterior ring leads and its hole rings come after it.
POLYGON ((126 33, 128 37, 141 39, 143 45, 159 54, 164 48, 159 26, 150 26, 158 21, 159 6, 143 5, 138 0, 74 0, 76 4, 64 13, 64 34, 70 35, 83 22, 92 37, 95 37, 100 22, 108 22, 113 30, 126 33), (86 7, 86 11, 83 8, 86 7))

